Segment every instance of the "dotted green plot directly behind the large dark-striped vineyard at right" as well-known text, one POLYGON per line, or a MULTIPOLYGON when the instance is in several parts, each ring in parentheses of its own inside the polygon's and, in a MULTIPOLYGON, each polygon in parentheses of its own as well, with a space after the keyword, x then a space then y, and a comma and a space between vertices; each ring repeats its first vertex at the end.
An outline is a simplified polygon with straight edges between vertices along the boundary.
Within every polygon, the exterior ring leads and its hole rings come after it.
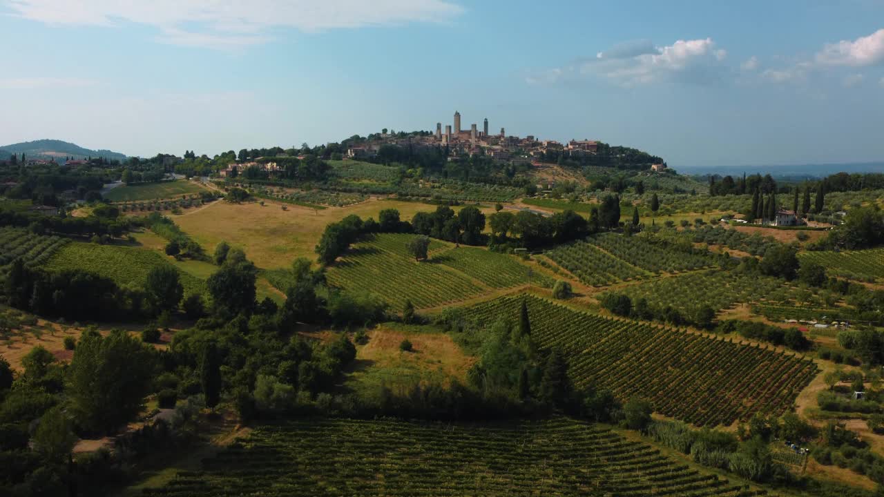
POLYGON ((736 303, 789 302, 795 290, 781 279, 747 275, 735 271, 711 270, 680 274, 671 278, 631 285, 621 290, 635 302, 645 299, 652 308, 672 306, 688 314, 709 306, 713 310, 728 309, 736 303))

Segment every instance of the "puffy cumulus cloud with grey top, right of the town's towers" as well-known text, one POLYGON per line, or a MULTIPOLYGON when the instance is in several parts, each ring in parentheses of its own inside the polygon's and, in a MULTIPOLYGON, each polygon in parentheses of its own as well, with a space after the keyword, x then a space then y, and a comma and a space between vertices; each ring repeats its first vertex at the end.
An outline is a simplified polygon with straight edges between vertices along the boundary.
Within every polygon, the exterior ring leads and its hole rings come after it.
POLYGON ((671 45, 653 47, 650 42, 628 42, 596 57, 585 58, 563 67, 531 73, 530 84, 595 77, 633 87, 666 79, 705 82, 717 77, 715 69, 728 57, 716 48, 712 38, 678 40, 671 45))

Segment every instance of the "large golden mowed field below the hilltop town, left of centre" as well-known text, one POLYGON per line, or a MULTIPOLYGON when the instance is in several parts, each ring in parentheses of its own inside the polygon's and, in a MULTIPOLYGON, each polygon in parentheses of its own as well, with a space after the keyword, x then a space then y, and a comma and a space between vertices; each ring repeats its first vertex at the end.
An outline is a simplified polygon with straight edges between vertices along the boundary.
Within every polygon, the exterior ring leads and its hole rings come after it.
MULTIPOLYGON (((282 205, 271 201, 263 206, 216 202, 176 217, 175 223, 209 253, 220 241, 227 241, 245 250, 248 259, 258 267, 274 269, 289 267, 297 257, 316 259, 314 248, 325 226, 350 214, 377 220, 381 210, 396 209, 403 220, 408 220, 416 212, 436 210, 434 205, 393 200, 372 200, 324 210, 297 205, 286 205, 287 210, 282 210, 282 205)), ((494 210, 488 207, 483 211, 488 215, 494 210)))

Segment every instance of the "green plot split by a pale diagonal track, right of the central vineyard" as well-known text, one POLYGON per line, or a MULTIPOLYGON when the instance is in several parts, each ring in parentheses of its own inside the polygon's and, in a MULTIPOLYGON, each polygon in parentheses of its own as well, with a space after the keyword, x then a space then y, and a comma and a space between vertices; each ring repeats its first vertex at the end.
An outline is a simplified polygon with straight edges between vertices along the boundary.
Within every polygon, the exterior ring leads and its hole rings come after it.
POLYGON ((596 286, 643 279, 663 271, 696 270, 715 263, 709 254, 692 253, 646 237, 614 233, 575 241, 545 255, 583 283, 596 286))

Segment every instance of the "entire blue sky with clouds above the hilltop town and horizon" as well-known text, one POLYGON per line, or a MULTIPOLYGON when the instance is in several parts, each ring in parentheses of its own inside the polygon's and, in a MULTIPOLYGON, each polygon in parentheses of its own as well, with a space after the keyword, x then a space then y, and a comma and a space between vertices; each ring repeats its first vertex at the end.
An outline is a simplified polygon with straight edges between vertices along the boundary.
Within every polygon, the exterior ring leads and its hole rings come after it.
POLYGON ((670 166, 884 160, 884 0, 0 0, 0 144, 463 126, 670 166))

